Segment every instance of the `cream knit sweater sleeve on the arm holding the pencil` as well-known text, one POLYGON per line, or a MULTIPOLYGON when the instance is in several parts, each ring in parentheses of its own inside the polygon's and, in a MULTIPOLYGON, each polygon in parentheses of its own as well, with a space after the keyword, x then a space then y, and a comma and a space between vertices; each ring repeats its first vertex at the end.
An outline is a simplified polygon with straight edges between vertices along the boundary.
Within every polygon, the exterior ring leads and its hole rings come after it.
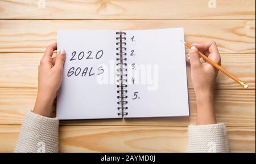
POLYGON ((224 123, 188 127, 189 153, 229 152, 228 137, 224 123))

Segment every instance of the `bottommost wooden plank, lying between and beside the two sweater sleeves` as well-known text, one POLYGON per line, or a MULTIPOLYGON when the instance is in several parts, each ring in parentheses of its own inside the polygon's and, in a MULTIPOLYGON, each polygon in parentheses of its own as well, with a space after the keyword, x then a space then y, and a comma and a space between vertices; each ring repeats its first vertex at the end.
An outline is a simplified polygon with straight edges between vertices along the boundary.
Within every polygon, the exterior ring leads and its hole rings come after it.
MULTIPOLYGON (((0 152, 13 152, 20 126, 0 126, 0 152)), ((60 152, 186 152, 187 127, 61 126, 60 152), (150 144, 148 144, 150 143, 150 144)), ((255 128, 228 128, 231 152, 255 152, 255 128)))

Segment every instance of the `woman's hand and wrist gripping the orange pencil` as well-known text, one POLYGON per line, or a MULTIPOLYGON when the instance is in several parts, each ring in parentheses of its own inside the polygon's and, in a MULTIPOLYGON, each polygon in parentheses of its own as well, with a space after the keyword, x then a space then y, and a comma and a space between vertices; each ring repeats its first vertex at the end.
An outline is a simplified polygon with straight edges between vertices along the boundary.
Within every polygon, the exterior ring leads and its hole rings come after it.
POLYGON ((191 65, 191 79, 196 93, 197 124, 215 124, 213 90, 218 70, 208 62, 201 62, 199 50, 212 61, 221 64, 220 53, 214 41, 193 44, 187 61, 191 65))

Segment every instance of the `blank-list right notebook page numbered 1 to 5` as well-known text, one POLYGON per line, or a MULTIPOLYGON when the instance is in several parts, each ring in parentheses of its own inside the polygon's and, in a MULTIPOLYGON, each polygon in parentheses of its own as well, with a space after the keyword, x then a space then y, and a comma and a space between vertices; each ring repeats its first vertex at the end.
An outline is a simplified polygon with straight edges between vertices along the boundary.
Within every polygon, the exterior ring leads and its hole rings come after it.
POLYGON ((154 83, 148 84, 149 81, 145 80, 146 84, 142 84, 142 80, 136 82, 144 75, 141 74, 134 80, 134 85, 131 84, 131 76, 135 74, 128 72, 127 78, 130 84, 127 87, 126 117, 188 116, 185 48, 180 41, 184 41, 183 28, 124 32, 127 38, 128 66, 137 64, 138 66, 135 65, 137 70, 134 72, 138 72, 139 66, 148 66, 151 69, 146 68, 146 71, 151 70, 151 74, 155 75, 154 83), (134 50, 135 55, 131 56, 131 50, 134 50), (153 70, 156 72, 153 73, 153 70), (148 88, 149 86, 151 88, 148 88), (135 92, 138 92, 136 93, 138 97, 134 96, 135 92), (133 100, 135 97, 137 98, 133 100))

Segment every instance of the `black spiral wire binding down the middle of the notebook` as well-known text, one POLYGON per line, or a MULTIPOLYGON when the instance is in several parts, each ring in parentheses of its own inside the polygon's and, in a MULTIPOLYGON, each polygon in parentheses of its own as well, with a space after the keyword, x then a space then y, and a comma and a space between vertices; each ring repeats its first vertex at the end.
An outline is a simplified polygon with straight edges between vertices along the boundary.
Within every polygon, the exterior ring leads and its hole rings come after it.
POLYGON ((127 79, 125 79, 125 77, 127 77, 127 63, 125 63, 125 61, 127 61, 127 58, 126 58, 126 33, 125 32, 116 32, 115 34, 118 35, 118 37, 116 37, 116 40, 117 40, 117 43, 116 45, 118 45, 117 47, 117 66, 120 67, 117 69, 117 82, 118 82, 118 85, 117 85, 117 93, 119 94, 119 96, 117 96, 118 98, 118 101, 117 101, 117 104, 120 105, 119 107, 117 107, 118 109, 118 116, 126 116, 128 115, 127 112, 125 112, 125 110, 128 109, 128 107, 126 106, 127 105, 127 98, 128 96, 125 95, 128 91, 125 89, 127 88, 127 79))

